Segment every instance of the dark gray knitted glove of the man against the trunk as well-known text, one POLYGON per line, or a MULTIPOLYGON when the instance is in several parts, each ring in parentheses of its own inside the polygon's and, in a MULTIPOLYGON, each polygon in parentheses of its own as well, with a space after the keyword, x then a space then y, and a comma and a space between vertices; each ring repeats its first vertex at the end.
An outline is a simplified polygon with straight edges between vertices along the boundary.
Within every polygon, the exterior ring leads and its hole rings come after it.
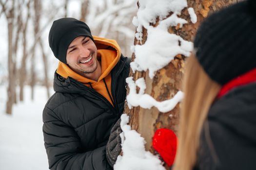
POLYGON ((114 164, 117 161, 118 155, 121 152, 120 133, 122 132, 122 130, 120 127, 120 122, 121 122, 121 119, 118 119, 116 124, 111 129, 108 143, 106 146, 106 156, 107 156, 108 163, 111 167, 114 166, 114 164))

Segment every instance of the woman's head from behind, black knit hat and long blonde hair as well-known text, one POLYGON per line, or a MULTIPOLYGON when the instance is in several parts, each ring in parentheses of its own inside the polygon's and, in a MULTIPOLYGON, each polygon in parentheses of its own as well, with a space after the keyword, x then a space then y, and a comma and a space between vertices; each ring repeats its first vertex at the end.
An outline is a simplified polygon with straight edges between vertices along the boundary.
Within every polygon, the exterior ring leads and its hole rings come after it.
POLYGON ((195 53, 185 66, 185 97, 173 170, 193 169, 203 123, 221 86, 256 68, 255 11, 255 0, 241 2, 211 15, 200 25, 195 53))

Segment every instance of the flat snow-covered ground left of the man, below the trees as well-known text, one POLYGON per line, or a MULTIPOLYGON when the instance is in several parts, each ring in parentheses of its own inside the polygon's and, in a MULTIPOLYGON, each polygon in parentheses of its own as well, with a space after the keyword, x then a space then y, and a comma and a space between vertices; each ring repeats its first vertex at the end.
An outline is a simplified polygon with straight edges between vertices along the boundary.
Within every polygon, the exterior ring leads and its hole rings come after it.
POLYGON ((48 170, 42 134, 42 110, 47 97, 44 87, 35 90, 32 102, 30 88, 25 87, 24 102, 7 115, 6 87, 0 86, 0 170, 48 170))

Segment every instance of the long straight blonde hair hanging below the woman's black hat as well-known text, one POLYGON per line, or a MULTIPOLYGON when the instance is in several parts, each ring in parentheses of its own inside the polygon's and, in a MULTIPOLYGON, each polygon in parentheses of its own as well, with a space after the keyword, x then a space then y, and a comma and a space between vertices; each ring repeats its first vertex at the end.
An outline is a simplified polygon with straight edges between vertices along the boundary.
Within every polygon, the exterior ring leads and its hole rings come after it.
POLYGON ((221 87, 210 79, 194 55, 186 62, 183 81, 185 95, 181 105, 178 149, 173 170, 192 170, 195 166, 202 126, 221 87))

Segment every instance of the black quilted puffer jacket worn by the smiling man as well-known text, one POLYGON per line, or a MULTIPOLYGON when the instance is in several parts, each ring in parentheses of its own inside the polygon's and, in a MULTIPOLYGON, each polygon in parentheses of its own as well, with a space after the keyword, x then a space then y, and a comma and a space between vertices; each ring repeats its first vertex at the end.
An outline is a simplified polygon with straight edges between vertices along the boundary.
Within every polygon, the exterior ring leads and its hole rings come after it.
POLYGON ((124 109, 129 59, 111 71, 113 107, 94 89, 55 73, 54 90, 43 110, 44 145, 51 170, 111 170, 105 147, 124 109))

